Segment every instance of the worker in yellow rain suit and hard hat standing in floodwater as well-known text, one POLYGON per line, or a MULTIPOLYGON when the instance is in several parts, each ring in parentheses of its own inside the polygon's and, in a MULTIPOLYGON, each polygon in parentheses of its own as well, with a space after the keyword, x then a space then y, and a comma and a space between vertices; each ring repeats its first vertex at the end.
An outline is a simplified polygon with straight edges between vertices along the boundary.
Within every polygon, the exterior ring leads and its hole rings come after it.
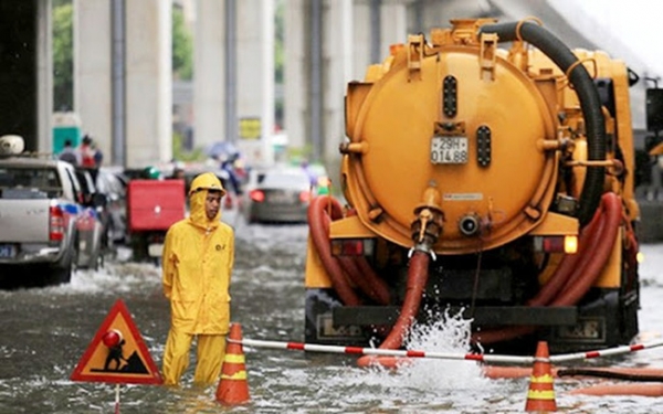
POLYGON ((221 222, 225 190, 211 172, 191 182, 189 217, 175 223, 164 245, 164 294, 170 300, 170 331, 164 351, 164 382, 177 385, 197 339, 193 382, 217 382, 230 321, 234 233, 221 222))

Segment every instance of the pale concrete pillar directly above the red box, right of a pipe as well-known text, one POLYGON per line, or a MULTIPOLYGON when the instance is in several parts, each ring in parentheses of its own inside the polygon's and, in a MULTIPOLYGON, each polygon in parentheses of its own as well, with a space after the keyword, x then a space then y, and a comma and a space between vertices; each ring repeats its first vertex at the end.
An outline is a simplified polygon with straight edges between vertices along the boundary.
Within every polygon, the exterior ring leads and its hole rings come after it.
POLYGON ((172 158, 171 2, 126 2, 127 167, 172 158))

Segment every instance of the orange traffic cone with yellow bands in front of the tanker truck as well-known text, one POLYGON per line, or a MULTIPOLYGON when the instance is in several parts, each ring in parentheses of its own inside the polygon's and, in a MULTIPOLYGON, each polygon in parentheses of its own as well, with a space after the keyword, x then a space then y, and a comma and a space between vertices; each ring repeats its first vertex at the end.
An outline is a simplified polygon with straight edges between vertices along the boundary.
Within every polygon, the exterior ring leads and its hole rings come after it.
POLYGON ((536 347, 525 411, 529 413, 554 413, 557 411, 550 354, 548 353, 548 342, 545 341, 538 342, 536 347))

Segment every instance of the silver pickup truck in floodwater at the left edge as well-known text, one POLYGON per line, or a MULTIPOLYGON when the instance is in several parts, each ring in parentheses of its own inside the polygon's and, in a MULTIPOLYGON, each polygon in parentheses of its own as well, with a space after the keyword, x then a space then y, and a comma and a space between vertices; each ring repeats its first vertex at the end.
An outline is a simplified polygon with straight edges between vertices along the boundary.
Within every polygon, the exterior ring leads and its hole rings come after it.
POLYGON ((0 282, 62 284, 76 267, 96 267, 103 203, 85 202, 69 162, 0 151, 0 282))

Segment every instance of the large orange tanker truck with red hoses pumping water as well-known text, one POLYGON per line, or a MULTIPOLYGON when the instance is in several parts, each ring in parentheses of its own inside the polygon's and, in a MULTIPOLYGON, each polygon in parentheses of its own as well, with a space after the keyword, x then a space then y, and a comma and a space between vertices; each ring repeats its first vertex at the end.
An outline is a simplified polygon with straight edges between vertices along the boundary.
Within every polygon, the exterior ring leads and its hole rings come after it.
POLYGON ((452 20, 392 45, 348 84, 347 204, 308 212, 306 341, 398 349, 412 323, 461 314, 477 349, 628 343, 634 82, 532 20, 452 20))

